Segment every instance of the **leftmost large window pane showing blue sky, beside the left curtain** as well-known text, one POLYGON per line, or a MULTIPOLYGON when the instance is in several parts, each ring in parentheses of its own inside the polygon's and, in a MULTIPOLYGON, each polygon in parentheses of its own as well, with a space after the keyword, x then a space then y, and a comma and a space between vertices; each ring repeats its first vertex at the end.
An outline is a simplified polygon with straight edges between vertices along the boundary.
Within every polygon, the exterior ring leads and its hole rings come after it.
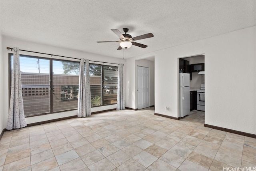
POLYGON ((50 60, 20 56, 20 71, 25 116, 49 113, 50 60))

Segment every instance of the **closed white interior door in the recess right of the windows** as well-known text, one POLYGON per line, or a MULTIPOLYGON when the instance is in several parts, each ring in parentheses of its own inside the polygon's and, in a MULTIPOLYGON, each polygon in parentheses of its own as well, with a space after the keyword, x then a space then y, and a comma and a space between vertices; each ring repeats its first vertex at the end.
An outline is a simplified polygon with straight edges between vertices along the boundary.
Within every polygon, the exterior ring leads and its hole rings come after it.
POLYGON ((149 107, 149 70, 146 67, 137 66, 138 78, 138 109, 149 107))

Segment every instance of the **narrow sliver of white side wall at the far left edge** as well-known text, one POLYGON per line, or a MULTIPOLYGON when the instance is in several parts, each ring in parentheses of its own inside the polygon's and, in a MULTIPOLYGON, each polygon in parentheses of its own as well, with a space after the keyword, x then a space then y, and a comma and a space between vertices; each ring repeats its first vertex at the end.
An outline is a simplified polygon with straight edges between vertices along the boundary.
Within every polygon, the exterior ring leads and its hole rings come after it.
MULTIPOLYGON (((2 35, 1 34, 0 34, 0 93, 1 94, 4 93, 4 89, 3 89, 2 35)), ((0 133, 2 133, 2 130, 4 129, 4 126, 3 126, 3 124, 4 124, 4 121, 3 121, 3 101, 4 101, 4 96, 0 95, 0 133)))

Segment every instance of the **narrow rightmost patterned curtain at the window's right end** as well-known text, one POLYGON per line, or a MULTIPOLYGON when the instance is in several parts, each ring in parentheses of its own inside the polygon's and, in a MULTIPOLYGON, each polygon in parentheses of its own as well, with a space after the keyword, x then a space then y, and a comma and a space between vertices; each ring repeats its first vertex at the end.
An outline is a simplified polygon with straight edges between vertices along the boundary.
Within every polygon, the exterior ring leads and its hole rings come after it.
POLYGON ((117 105, 116 110, 123 110, 124 107, 124 64, 118 64, 118 83, 117 83, 117 105))

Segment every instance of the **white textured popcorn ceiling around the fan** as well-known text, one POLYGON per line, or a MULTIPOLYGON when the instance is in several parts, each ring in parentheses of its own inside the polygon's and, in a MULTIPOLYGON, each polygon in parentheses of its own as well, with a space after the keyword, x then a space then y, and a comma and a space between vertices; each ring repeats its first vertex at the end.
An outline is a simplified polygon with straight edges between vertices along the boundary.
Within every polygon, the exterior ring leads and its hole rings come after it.
POLYGON ((0 26, 5 36, 116 58, 117 42, 96 43, 119 40, 111 28, 154 34, 136 41, 147 48, 127 49, 130 58, 256 26, 256 1, 0 0, 0 26))

